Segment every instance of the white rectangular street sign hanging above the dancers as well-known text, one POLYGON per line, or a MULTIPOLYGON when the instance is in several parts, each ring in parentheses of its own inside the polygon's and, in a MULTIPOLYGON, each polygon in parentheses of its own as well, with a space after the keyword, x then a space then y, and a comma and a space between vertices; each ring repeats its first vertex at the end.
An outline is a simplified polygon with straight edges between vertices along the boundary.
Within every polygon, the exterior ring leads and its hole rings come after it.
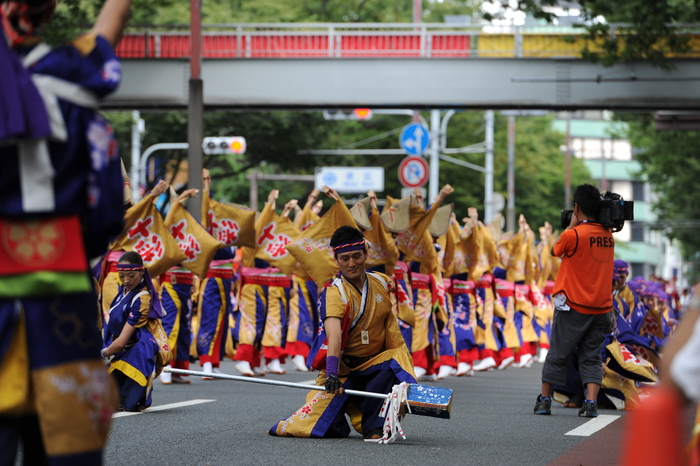
POLYGON ((323 186, 339 193, 366 193, 384 191, 383 167, 316 167, 316 189, 323 186))

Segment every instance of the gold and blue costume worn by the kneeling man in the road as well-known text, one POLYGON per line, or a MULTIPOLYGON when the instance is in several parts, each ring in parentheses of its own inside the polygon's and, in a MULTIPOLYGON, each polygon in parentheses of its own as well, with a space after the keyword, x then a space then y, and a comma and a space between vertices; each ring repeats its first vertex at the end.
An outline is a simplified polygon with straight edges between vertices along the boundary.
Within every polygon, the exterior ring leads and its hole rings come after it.
MULTIPOLYGON (((389 296, 393 283, 386 275, 368 273, 362 290, 342 276, 326 288, 319 299, 321 325, 326 317, 341 320, 349 313, 349 331, 343 347, 339 378, 345 389, 389 393, 401 382, 415 383, 411 355, 391 310, 389 296), (367 332, 363 342, 362 334, 367 332)), ((317 338, 325 339, 323 327, 317 338)), ((319 345, 314 345, 318 349, 319 345)), ((309 359, 314 358, 309 355, 309 359)), ((350 417, 359 432, 381 429, 382 400, 347 394, 333 395, 323 388, 326 372, 316 378, 318 391, 306 396, 306 403, 290 417, 276 423, 270 435, 286 437, 347 437, 350 417)))

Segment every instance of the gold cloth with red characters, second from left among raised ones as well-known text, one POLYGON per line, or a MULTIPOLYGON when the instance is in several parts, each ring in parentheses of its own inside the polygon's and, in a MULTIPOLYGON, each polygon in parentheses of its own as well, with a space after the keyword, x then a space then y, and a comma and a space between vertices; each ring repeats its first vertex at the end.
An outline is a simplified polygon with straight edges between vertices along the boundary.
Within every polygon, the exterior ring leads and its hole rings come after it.
POLYGON ((216 251, 224 246, 223 243, 215 240, 179 202, 171 204, 165 225, 185 254, 183 267, 203 280, 209 270, 209 263, 216 251))

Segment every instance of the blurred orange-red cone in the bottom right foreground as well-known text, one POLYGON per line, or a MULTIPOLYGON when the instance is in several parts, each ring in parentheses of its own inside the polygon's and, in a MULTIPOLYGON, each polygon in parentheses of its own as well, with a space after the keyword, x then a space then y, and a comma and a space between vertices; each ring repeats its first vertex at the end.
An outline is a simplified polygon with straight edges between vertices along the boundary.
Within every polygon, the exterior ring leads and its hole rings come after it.
POLYGON ((683 460, 683 402, 670 387, 659 386, 639 409, 625 416, 622 466, 680 466, 683 460))

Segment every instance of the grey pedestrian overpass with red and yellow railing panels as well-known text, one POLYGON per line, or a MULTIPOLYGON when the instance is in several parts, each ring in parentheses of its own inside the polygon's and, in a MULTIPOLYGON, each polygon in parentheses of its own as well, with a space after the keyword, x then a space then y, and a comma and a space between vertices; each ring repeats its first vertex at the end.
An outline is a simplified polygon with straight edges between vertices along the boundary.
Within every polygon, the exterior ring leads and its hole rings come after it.
MULTIPOLYGON (((581 59, 572 29, 452 24, 204 26, 208 109, 700 109, 700 27, 672 71, 581 59), (568 38, 568 39, 566 39, 568 38)), ((186 29, 130 29, 107 109, 186 108, 186 29)))

